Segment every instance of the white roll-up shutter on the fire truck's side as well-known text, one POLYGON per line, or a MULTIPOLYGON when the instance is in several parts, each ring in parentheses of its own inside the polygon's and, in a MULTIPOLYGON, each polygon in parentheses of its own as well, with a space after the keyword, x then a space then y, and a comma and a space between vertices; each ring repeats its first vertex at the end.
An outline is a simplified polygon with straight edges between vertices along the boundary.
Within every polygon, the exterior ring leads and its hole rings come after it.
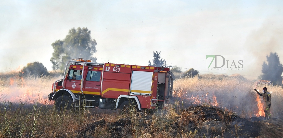
POLYGON ((153 72, 132 71, 130 94, 150 95, 153 72))

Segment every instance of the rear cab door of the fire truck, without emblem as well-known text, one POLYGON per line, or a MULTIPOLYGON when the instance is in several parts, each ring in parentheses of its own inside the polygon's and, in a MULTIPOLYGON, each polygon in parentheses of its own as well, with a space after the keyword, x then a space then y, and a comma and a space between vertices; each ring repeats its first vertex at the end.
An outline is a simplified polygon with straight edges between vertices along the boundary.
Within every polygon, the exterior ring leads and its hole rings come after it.
POLYGON ((84 94, 100 95, 101 71, 87 71, 83 85, 84 94))

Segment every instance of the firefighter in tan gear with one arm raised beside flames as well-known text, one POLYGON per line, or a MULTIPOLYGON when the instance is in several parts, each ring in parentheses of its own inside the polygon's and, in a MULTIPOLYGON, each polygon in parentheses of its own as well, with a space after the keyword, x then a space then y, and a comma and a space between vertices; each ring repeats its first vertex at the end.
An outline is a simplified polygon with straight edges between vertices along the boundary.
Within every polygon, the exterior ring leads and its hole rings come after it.
POLYGON ((271 94, 269 92, 267 92, 267 88, 264 87, 262 89, 262 94, 260 92, 258 92, 258 90, 254 89, 258 95, 260 96, 263 96, 263 100, 265 102, 265 109, 264 109, 264 112, 265 112, 265 120, 269 119, 272 120, 272 116, 271 116, 271 113, 270 113, 270 107, 271 107, 271 94))

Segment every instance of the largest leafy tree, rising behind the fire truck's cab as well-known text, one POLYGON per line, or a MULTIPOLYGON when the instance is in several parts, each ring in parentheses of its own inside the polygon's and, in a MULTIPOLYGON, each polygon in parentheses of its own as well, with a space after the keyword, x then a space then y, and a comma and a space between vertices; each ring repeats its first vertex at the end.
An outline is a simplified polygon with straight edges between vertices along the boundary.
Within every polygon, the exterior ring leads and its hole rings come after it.
POLYGON ((65 69, 67 61, 71 58, 87 58, 96 62, 97 58, 93 57, 97 51, 96 45, 95 39, 91 39, 91 31, 87 28, 70 29, 65 39, 52 43, 52 69, 65 69))

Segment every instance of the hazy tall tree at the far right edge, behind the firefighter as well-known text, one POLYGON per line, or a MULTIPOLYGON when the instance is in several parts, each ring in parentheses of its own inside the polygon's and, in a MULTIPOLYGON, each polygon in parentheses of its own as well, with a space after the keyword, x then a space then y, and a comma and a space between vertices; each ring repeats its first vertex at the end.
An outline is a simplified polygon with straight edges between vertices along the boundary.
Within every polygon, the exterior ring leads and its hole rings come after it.
POLYGON ((267 63, 264 61, 262 64, 262 75, 260 78, 262 80, 269 80, 274 85, 280 84, 282 85, 282 72, 283 66, 280 63, 279 57, 277 53, 270 52, 269 56, 266 56, 267 63))

